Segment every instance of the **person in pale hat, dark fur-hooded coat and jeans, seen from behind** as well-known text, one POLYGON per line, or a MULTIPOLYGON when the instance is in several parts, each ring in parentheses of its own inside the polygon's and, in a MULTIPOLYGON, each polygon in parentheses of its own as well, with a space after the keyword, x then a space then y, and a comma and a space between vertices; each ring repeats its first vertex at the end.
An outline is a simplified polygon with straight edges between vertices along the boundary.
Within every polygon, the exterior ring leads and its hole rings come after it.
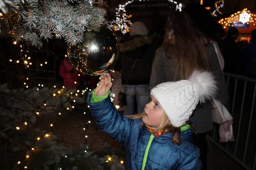
POLYGON ((147 26, 142 22, 134 22, 130 37, 120 43, 121 79, 127 101, 124 115, 134 113, 135 97, 137 113, 142 113, 149 102, 149 79, 157 48, 153 41, 153 36, 148 35, 147 26))

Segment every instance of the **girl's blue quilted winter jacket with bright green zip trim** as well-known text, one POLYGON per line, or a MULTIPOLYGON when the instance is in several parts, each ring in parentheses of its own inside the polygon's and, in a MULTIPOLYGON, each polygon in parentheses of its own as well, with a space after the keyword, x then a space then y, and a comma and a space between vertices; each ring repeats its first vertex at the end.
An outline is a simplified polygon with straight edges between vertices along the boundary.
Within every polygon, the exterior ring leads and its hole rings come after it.
MULTIPOLYGON (((122 117, 109 97, 97 103, 91 103, 91 97, 90 93, 87 102, 100 130, 125 146, 126 169, 140 170, 151 136, 147 127, 141 126, 141 119, 122 117)), ((181 134, 183 142, 180 145, 172 144, 172 133, 154 137, 149 147, 145 170, 202 169, 200 151, 192 143, 194 132, 188 129, 181 134)))

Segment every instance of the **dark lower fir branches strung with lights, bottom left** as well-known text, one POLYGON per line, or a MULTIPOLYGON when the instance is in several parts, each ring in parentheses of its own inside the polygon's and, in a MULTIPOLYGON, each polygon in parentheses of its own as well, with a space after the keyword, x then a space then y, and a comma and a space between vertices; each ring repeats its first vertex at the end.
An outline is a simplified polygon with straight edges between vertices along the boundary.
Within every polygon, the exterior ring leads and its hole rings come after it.
POLYGON ((65 87, 11 90, 7 84, 0 85, 1 169, 124 169, 115 155, 120 151, 108 145, 92 151, 83 143, 72 151, 52 134, 52 126, 61 123, 60 110, 72 110, 75 103, 84 105, 86 98, 87 93, 65 87), (58 120, 52 123, 51 119, 58 120), (49 126, 40 130, 47 121, 49 126))

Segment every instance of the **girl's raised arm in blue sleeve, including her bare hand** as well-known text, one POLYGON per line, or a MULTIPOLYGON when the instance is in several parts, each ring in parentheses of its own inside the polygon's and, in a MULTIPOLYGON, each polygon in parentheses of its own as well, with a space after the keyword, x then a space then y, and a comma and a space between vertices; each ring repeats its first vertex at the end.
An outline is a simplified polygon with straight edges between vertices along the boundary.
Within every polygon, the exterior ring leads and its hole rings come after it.
POLYGON ((107 77, 101 76, 99 85, 89 94, 87 103, 100 130, 114 140, 126 145, 131 140, 132 131, 137 128, 141 129, 141 121, 122 117, 114 108, 109 96, 104 98, 109 93, 111 86, 111 76, 109 74, 107 74, 107 77), (94 103, 91 100, 92 96, 103 97, 104 99, 94 103))

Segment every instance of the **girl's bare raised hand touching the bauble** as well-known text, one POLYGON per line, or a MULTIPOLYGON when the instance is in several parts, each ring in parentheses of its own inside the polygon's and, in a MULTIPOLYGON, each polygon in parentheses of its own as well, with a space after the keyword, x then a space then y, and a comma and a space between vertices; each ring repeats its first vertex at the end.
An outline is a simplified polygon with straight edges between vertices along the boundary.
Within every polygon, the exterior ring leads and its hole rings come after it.
POLYGON ((101 75, 99 85, 94 90, 94 95, 97 97, 102 97, 108 94, 108 91, 112 87, 111 76, 107 73, 107 76, 101 75))

